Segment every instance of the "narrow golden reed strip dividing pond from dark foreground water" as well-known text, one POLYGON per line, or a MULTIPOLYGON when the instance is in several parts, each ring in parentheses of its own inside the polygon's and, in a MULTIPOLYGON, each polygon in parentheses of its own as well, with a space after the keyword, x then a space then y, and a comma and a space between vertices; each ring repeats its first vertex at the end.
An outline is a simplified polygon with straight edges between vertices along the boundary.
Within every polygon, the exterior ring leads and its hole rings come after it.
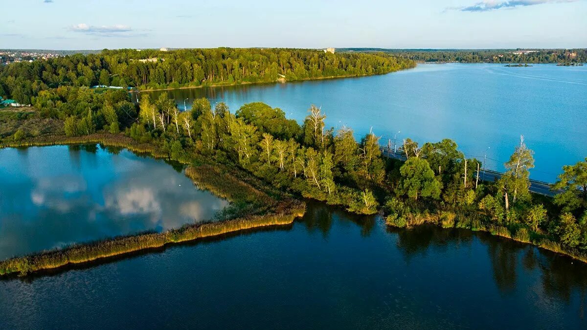
POLYGON ((303 213, 305 213, 305 204, 294 200, 285 201, 280 203, 277 212, 271 214, 251 215, 217 223, 184 225, 184 227, 168 230, 164 233, 116 237, 94 243, 76 244, 68 248, 25 257, 11 258, 0 261, 0 275, 26 275, 39 270, 59 268, 68 264, 81 264, 115 255, 160 248, 167 244, 177 244, 255 227, 289 225, 303 213))

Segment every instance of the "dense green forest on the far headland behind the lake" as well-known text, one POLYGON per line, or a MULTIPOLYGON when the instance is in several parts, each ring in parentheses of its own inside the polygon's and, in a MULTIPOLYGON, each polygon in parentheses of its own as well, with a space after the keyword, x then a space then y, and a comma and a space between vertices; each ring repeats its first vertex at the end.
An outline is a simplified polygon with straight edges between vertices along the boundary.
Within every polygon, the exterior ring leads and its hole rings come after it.
POLYGON ((232 85, 389 73, 415 63, 386 53, 310 49, 120 49, 0 66, 0 96, 23 104, 60 86, 140 89, 232 85))

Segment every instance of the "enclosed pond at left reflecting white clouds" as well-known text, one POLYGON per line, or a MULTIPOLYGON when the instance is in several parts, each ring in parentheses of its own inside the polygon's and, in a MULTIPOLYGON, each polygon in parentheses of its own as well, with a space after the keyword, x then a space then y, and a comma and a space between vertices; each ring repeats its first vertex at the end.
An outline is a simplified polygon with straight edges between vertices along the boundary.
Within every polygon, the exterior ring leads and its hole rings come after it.
POLYGON ((177 170, 95 145, 1 149, 0 259, 181 227, 228 204, 177 170))

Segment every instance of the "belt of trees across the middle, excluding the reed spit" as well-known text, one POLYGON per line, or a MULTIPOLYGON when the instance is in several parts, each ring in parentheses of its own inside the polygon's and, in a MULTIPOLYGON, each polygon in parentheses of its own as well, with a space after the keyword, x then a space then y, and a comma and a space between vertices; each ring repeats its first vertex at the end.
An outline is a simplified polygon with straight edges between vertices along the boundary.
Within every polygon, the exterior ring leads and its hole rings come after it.
MULTIPOLYGON (((431 222, 487 230, 587 260, 587 159, 564 167, 555 198, 531 194, 534 159, 523 138, 512 146, 504 176, 484 182, 477 177, 483 164, 467 159, 452 140, 419 146, 406 139, 401 152, 407 161, 387 159, 374 133, 357 142, 349 127, 326 127, 326 116, 314 106, 299 124, 264 103, 233 113, 225 103, 212 108, 197 99, 180 112, 166 93, 157 99, 145 93, 134 105, 123 90, 61 86, 39 93, 35 107, 36 116, 59 118, 67 136, 123 132, 170 159, 214 159, 353 213, 383 212, 397 227, 431 222)), ((18 130, 4 143, 34 134, 18 130)))

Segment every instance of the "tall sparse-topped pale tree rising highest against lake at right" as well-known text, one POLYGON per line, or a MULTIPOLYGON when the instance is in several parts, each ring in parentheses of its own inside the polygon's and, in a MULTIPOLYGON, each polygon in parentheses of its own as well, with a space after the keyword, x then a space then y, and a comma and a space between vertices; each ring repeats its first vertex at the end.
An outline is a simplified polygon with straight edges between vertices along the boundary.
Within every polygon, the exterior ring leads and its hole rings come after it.
POLYGON ((519 197, 527 200, 530 197, 530 171, 534 167, 534 151, 528 149, 524 143, 524 136, 520 136, 519 146, 514 150, 510 160, 505 163, 505 174, 499 180, 498 185, 504 190, 505 205, 508 208, 507 195, 513 194, 513 203, 519 197))

